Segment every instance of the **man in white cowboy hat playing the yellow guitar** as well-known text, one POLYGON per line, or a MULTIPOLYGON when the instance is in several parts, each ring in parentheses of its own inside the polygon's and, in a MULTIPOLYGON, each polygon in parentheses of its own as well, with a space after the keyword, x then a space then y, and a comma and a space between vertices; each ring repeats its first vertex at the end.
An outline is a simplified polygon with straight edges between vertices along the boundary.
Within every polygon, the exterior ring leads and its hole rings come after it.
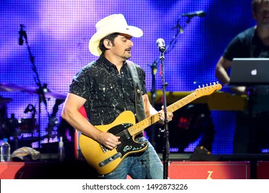
MULTIPOLYGON (((90 39, 89 50, 99 59, 84 66, 74 76, 61 117, 82 134, 113 150, 121 144, 121 137, 103 132, 96 125, 108 125, 127 110, 136 114, 137 121, 141 121, 141 117, 157 114, 161 122, 165 114, 163 110, 157 112, 150 104, 144 70, 135 64, 140 81, 140 89, 136 93, 128 68, 132 37, 141 37, 143 31, 128 26, 123 14, 112 14, 101 19, 96 29, 90 39), (143 111, 136 110, 136 94, 141 96, 143 111), (88 119, 79 112, 81 107, 85 108, 88 119)), ((171 121, 172 116, 172 112, 167 112, 167 121, 171 121)), ((137 135, 136 141, 148 143, 148 148, 129 154, 115 170, 100 175, 101 179, 126 179, 128 175, 132 179, 163 179, 163 165, 155 149, 142 132, 137 135)))

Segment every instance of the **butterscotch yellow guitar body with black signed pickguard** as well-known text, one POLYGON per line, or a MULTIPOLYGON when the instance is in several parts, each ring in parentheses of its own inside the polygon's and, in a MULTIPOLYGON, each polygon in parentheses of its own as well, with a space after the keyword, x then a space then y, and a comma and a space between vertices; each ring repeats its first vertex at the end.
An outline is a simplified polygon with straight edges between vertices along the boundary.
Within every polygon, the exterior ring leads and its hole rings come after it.
POLYGON ((121 144, 113 150, 107 150, 101 144, 81 134, 79 137, 81 152, 85 158, 90 159, 88 163, 97 169, 99 174, 107 174, 114 170, 128 154, 143 152, 148 148, 148 143, 136 143, 135 135, 131 136, 126 130, 132 125, 135 125, 135 115, 126 111, 119 114, 117 119, 109 125, 97 126, 103 132, 110 132, 116 136, 121 135, 121 144))

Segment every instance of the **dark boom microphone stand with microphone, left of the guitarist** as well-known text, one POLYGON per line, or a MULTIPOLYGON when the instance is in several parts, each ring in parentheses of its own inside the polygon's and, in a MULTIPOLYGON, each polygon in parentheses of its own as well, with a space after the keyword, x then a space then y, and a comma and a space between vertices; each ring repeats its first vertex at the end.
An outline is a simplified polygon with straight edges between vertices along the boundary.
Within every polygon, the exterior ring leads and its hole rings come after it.
POLYGON ((41 141, 41 127, 40 127, 40 122, 41 122, 41 102, 43 101, 43 103, 45 104, 45 108, 46 108, 46 112, 48 112, 47 110, 47 101, 46 101, 46 97, 45 97, 45 92, 44 89, 46 88, 46 84, 44 84, 44 87, 41 85, 41 81, 39 79, 39 74, 37 72, 37 66, 34 64, 34 56, 32 55, 32 52, 30 50, 30 46, 28 44, 28 39, 27 39, 27 34, 26 31, 23 30, 24 26, 23 24, 20 25, 21 26, 21 30, 19 31, 20 37, 19 37, 19 45, 23 45, 23 37, 26 40, 26 45, 28 48, 28 52, 30 54, 30 61, 32 63, 32 70, 34 71, 34 74, 36 75, 36 77, 34 77, 34 81, 35 83, 37 83, 38 89, 37 89, 37 94, 39 94, 39 117, 38 117, 38 131, 39 131, 39 136, 38 136, 38 140, 39 140, 39 148, 41 148, 40 145, 40 141, 41 141))

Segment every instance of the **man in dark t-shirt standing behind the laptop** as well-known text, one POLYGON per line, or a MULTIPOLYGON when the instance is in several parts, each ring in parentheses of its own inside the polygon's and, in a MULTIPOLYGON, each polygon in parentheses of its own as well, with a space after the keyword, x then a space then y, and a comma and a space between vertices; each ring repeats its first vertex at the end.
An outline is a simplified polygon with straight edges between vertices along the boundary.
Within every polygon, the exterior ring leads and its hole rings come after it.
MULTIPOLYGON (((269 0, 252 1, 252 17, 256 26, 248 28, 237 34, 220 57, 215 68, 215 76, 222 85, 230 83, 229 70, 234 58, 268 58, 269 57, 269 0)), ((246 86, 232 86, 231 92, 235 94, 248 94, 246 86)), ((269 141, 268 111, 266 103, 261 103, 268 97, 268 88, 255 86, 253 111, 238 112, 234 135, 234 153, 261 152, 262 146, 268 146, 269 141), (259 103, 258 103, 259 102, 259 103), (250 116, 252 116, 250 118, 250 116), (251 121, 251 122, 250 122, 251 121)))

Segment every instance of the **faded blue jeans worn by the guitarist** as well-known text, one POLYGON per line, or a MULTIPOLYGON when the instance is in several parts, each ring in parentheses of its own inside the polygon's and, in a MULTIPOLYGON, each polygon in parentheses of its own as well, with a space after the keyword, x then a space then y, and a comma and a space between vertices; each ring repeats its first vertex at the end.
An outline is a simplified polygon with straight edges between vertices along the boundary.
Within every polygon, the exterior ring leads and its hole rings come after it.
MULTIPOLYGON (((141 141, 148 142, 145 137, 137 140, 141 141)), ((132 179, 163 179, 163 164, 150 142, 145 152, 130 154, 116 170, 101 176, 101 179, 126 179, 127 175, 132 179)))

